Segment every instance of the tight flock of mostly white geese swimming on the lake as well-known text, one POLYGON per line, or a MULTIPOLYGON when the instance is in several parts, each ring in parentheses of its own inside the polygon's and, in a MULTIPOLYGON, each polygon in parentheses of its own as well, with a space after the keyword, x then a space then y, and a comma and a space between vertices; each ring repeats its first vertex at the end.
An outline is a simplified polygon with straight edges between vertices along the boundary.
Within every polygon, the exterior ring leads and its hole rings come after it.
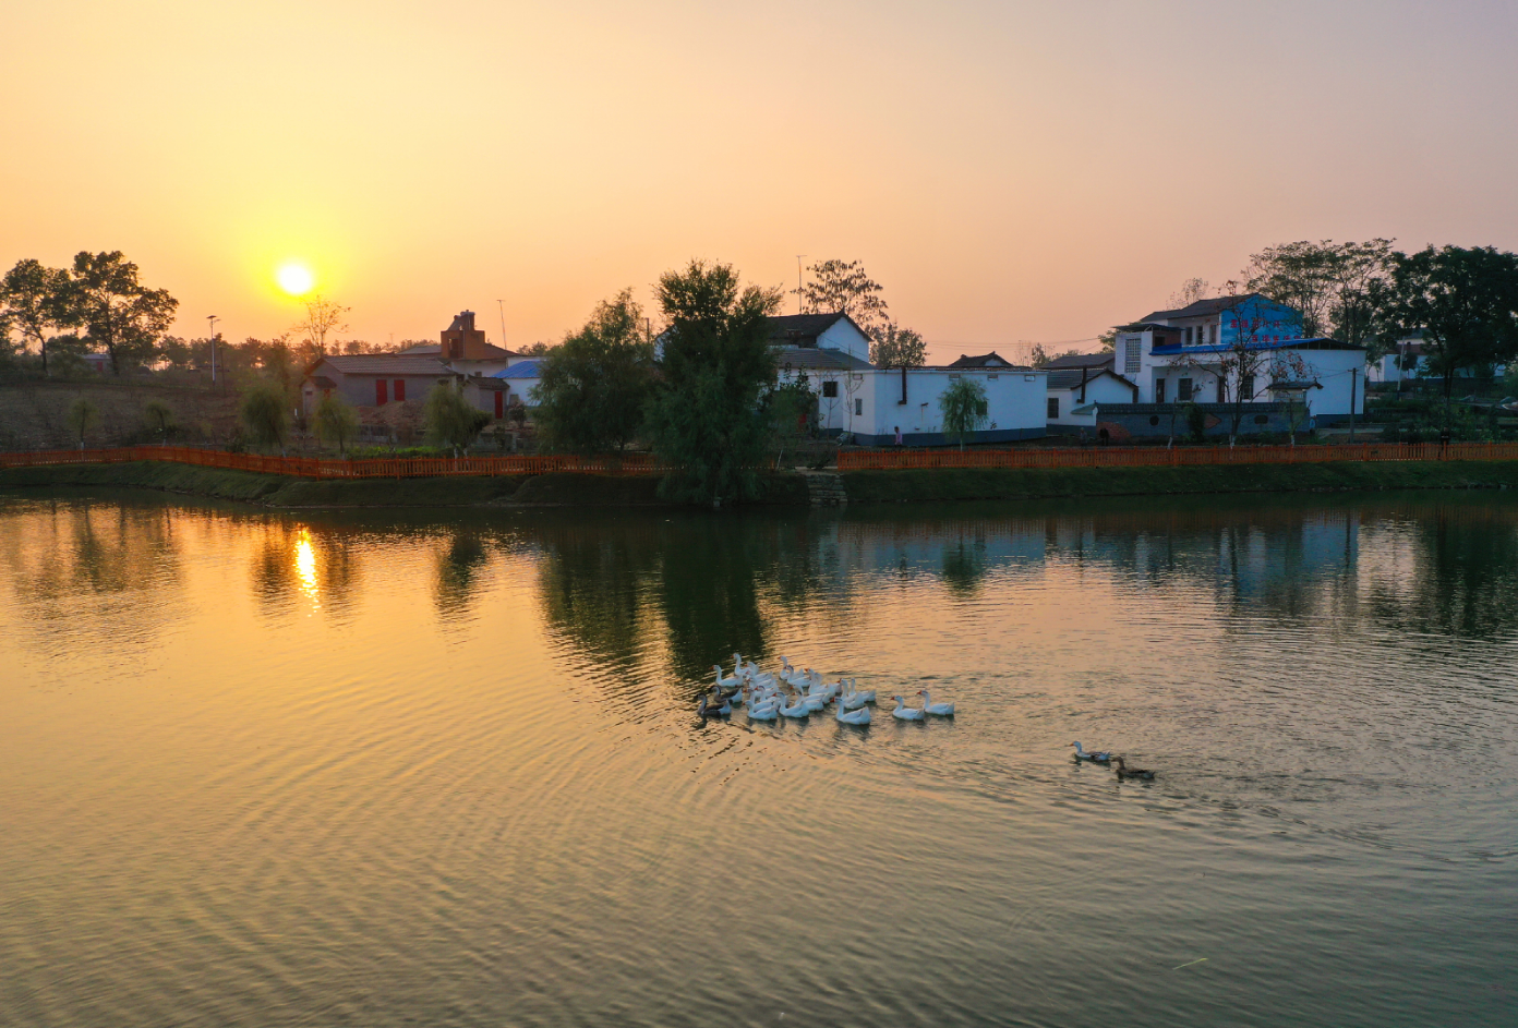
MULTIPOLYGON (((812 668, 795 668, 780 657, 779 671, 764 671, 742 654, 733 654, 733 673, 723 674, 723 665, 713 664, 716 685, 701 695, 695 712, 703 717, 727 717, 733 708, 744 708, 750 721, 774 721, 777 718, 809 718, 821 714, 829 703, 836 705, 833 717, 842 724, 868 724, 874 689, 861 689, 858 679, 823 682, 812 668)), ((952 717, 953 703, 934 703, 927 689, 920 689, 921 706, 908 706, 900 695, 891 717, 902 721, 921 721, 927 717, 952 717)))

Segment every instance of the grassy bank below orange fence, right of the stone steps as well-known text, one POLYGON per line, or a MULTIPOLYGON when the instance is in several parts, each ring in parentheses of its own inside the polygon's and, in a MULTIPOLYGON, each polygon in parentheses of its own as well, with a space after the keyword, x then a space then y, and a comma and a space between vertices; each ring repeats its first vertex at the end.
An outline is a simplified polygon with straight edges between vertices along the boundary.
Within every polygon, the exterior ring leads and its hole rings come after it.
POLYGON ((849 503, 1518 487, 1518 462, 1202 465, 1195 468, 955 468, 849 471, 849 503))

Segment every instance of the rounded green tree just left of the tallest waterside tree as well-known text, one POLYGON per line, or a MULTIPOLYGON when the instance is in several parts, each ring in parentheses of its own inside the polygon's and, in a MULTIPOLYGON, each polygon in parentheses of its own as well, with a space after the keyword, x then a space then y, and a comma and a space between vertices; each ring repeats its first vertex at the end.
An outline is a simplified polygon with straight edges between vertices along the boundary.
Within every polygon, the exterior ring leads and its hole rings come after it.
POLYGON ((653 390, 653 343, 633 290, 603 301, 539 364, 537 425, 551 449, 625 449, 653 390))

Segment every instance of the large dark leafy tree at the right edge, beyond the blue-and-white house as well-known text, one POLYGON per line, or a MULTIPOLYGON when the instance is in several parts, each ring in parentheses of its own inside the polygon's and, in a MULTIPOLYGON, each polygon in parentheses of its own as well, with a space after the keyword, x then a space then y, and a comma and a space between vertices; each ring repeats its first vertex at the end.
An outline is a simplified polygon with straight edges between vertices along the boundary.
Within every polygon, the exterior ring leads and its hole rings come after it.
POLYGON ((1383 339, 1422 330, 1428 374, 1444 377, 1445 425, 1459 371, 1518 355, 1518 254, 1491 246, 1392 254, 1372 302, 1383 339))

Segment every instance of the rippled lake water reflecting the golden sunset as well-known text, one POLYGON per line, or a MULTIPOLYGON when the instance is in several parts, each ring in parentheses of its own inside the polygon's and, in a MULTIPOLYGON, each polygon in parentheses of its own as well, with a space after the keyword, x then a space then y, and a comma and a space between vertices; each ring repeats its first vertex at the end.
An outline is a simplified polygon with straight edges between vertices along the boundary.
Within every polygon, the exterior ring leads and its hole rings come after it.
POLYGON ((1501 494, 11 495, 0 1023, 1513 1025, 1515 683, 1501 494))

